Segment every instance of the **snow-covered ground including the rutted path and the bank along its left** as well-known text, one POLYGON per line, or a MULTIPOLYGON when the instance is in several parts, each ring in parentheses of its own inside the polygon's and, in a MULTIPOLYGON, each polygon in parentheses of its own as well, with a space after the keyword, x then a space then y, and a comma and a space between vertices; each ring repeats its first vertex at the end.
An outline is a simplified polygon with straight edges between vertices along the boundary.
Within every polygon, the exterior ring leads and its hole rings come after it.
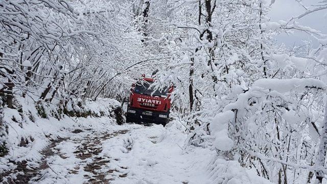
MULTIPOLYGON (((2 111, 8 133, 1 139, 9 145, 8 155, 0 157, 2 183, 270 183, 237 161, 219 157, 213 147, 188 144, 179 121, 166 127, 118 125, 112 110, 120 104, 110 99, 68 109, 105 114, 100 118, 57 119, 55 106, 43 109, 48 115, 41 118, 37 111, 42 109, 21 104, 22 112, 2 111)), ((224 124, 215 127, 223 130, 224 124)), ((216 146, 231 144, 224 131, 218 134, 216 146)))

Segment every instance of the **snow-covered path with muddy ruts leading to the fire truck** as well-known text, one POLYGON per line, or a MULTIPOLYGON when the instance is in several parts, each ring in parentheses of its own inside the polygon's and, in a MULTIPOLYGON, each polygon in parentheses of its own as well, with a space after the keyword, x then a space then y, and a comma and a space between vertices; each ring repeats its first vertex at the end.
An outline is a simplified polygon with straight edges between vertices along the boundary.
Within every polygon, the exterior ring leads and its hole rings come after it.
POLYGON ((216 151, 185 147, 187 135, 177 121, 166 127, 118 126, 80 118, 76 124, 49 139, 38 164, 20 169, 16 183, 269 183, 216 151))

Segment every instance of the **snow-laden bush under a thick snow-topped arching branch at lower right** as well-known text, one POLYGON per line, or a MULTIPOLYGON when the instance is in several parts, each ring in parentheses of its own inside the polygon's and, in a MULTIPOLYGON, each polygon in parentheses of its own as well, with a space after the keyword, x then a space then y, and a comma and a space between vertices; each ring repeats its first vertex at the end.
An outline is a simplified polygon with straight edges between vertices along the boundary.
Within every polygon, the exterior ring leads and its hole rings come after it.
MULTIPOLYGON (((228 165, 235 162, 238 167, 254 168, 256 174, 273 182, 278 182, 274 177, 278 172, 281 178, 294 170, 309 174, 312 169, 295 166, 315 160, 325 87, 321 80, 312 78, 259 79, 248 88, 235 86, 228 95, 203 99, 205 108, 191 119, 201 125, 190 130, 186 146, 216 150, 222 158, 217 162, 224 158, 230 160, 228 165)), ((228 170, 225 166, 216 163, 215 168, 228 170)), ((229 176, 224 176, 217 181, 227 183, 223 178, 229 176)), ((305 179, 305 175, 298 179, 305 179)))

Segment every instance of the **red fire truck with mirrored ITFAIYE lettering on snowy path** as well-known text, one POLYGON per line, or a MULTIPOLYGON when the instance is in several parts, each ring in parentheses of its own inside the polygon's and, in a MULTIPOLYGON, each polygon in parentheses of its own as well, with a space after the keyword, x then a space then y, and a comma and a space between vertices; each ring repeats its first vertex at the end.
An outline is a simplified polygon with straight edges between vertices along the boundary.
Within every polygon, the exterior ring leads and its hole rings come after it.
POLYGON ((166 125, 173 87, 153 90, 153 78, 143 77, 132 84, 127 107, 127 122, 151 122, 166 125))

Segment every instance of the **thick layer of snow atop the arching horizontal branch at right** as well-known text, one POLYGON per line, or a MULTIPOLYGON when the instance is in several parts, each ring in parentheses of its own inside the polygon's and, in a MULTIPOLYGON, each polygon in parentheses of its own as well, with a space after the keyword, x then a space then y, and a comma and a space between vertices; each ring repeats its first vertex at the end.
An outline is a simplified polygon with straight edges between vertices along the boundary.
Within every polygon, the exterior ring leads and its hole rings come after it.
POLYGON ((279 93, 286 93, 291 90, 303 91, 306 87, 324 88, 326 85, 318 79, 259 79, 253 86, 275 90, 279 93))

